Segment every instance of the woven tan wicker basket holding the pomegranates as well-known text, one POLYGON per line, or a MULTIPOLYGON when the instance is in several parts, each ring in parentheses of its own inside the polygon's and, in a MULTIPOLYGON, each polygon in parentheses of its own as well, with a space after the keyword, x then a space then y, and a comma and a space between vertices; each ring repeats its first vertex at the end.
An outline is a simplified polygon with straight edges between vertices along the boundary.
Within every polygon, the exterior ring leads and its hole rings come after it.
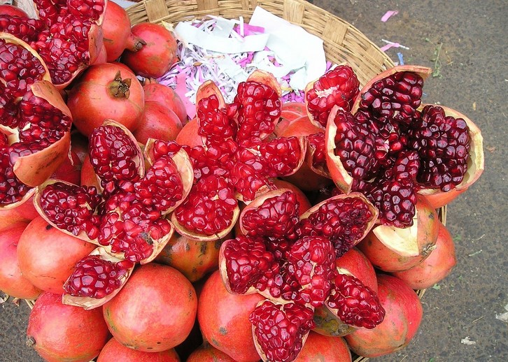
MULTIPOLYGON (((360 85, 394 66, 393 61, 353 25, 304 0, 144 0, 127 8, 127 13, 133 25, 164 21, 176 26, 178 22, 205 15, 229 19, 242 16, 248 22, 256 6, 323 39, 326 59, 335 64, 348 63, 360 85)), ((446 206, 438 210, 438 215, 446 224, 446 206)), ((425 289, 416 292, 421 298, 425 289)), ((367 360, 357 357, 354 362, 367 360)))

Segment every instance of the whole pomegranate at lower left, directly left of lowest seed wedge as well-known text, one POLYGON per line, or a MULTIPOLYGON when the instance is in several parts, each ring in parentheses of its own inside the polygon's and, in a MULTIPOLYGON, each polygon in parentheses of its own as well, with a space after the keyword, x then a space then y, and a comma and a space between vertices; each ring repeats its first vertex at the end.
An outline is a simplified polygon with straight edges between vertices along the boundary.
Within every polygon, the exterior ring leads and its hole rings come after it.
POLYGON ((42 217, 36 217, 20 236, 17 258, 22 275, 34 286, 63 294, 64 282, 76 263, 93 249, 90 242, 62 233, 42 217))

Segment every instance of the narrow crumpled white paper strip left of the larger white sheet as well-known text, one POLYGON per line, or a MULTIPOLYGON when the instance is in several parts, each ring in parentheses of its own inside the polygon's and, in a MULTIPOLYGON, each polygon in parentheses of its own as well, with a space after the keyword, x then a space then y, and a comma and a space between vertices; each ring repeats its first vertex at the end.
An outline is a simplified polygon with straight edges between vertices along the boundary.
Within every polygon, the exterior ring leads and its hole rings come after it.
POLYGON ((269 34, 249 35, 244 38, 244 41, 235 38, 223 38, 197 29, 188 22, 179 22, 175 27, 175 33, 184 43, 194 44, 206 50, 225 54, 263 50, 269 37, 269 34))

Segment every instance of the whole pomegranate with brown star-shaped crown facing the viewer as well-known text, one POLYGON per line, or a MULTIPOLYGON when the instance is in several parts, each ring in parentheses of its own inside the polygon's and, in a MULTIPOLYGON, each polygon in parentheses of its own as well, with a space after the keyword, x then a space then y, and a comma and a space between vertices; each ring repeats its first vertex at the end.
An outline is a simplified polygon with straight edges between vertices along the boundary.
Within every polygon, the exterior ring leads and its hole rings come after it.
POLYGON ((96 64, 73 85, 67 106, 73 124, 85 136, 108 119, 132 131, 143 116, 143 87, 136 75, 125 68, 111 63, 96 64))

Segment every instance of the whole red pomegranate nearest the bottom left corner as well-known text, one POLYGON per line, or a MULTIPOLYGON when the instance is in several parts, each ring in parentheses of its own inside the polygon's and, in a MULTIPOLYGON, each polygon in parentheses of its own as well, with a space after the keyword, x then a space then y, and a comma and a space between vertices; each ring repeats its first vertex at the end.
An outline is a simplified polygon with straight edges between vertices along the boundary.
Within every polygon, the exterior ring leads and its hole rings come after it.
POLYGON ((61 294, 41 294, 28 319, 27 345, 48 362, 88 362, 108 338, 100 309, 64 305, 61 294))

